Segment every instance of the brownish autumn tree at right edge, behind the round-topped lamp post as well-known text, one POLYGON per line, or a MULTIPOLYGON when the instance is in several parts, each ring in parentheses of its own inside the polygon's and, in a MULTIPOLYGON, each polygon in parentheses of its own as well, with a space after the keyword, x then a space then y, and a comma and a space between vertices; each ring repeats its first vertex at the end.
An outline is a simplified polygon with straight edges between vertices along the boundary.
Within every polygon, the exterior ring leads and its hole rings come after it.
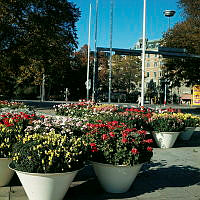
MULTIPOLYGON (((173 29, 164 34, 163 44, 167 47, 185 48, 190 54, 200 55, 200 0, 179 0, 183 9, 184 21, 177 23, 173 29)), ((187 86, 200 83, 200 70, 197 58, 167 59, 165 65, 166 78, 173 86, 184 82, 187 86)))

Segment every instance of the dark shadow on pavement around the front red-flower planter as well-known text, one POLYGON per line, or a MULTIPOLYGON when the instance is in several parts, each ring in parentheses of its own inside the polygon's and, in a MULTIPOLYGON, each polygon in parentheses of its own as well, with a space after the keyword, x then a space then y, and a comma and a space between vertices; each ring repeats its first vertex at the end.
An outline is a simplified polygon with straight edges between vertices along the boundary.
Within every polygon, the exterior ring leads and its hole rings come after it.
POLYGON ((169 187, 188 187, 200 185, 200 169, 191 166, 172 165, 166 166, 162 163, 145 164, 143 170, 138 174, 130 190, 123 194, 111 194, 105 192, 97 179, 90 177, 81 184, 73 182, 64 200, 106 200, 134 198, 143 194, 152 193, 169 187))

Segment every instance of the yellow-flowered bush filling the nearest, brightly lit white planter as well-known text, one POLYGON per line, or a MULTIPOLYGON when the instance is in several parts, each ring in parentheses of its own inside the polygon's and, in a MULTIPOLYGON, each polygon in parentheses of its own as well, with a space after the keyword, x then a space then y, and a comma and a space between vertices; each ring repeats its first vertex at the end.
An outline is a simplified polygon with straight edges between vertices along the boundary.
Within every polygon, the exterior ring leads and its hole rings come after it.
POLYGON ((11 167, 31 173, 60 173, 83 167, 81 137, 52 130, 45 134, 26 134, 15 145, 11 167))

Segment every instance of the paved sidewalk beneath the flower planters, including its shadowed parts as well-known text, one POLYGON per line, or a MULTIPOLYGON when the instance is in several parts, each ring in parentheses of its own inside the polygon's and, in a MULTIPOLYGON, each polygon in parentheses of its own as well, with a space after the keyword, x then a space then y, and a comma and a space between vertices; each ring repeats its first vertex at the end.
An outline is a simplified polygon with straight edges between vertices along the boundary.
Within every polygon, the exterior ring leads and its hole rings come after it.
MULTIPOLYGON (((200 132, 189 142, 177 141, 174 148, 154 148, 131 189, 109 194, 101 189, 91 166, 78 173, 64 200, 200 200, 200 132)), ((0 200, 28 200, 17 176, 0 187, 0 200)))

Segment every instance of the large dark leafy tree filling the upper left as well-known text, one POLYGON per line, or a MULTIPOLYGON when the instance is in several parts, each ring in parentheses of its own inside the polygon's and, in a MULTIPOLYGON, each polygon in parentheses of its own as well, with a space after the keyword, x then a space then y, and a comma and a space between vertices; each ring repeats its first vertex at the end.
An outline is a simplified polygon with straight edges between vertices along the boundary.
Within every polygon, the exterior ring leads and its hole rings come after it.
POLYGON ((77 48, 75 23, 80 17, 68 0, 0 1, 1 77, 12 85, 41 85, 49 94, 66 87, 77 48))

